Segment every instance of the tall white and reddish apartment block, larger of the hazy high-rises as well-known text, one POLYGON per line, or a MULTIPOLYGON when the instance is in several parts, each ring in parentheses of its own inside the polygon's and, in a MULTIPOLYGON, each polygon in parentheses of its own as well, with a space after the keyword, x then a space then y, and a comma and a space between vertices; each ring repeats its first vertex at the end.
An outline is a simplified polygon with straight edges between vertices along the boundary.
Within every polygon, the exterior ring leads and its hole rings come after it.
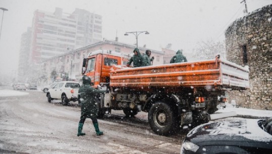
POLYGON ((31 61, 34 64, 102 40, 102 17, 82 9, 72 14, 36 10, 32 21, 31 61))

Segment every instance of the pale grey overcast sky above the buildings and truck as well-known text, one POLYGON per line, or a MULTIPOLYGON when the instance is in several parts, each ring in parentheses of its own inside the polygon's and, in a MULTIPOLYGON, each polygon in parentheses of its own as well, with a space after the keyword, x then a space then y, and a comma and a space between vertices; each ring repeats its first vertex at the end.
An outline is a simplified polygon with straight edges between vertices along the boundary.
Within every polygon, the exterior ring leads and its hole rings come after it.
MULTIPOLYGON (((33 12, 54 12, 62 8, 72 13, 75 8, 102 16, 102 37, 134 44, 134 35, 125 32, 148 31, 140 34, 138 45, 161 50, 168 43, 172 49, 190 53, 196 43, 212 39, 223 41, 226 28, 245 14, 242 0, 0 0, 6 8, 0 39, 0 71, 14 73, 18 68, 20 39, 31 27, 33 12)), ((272 0, 246 0, 248 12, 272 4, 272 0)), ((2 21, 3 11, 0 10, 2 21)))

